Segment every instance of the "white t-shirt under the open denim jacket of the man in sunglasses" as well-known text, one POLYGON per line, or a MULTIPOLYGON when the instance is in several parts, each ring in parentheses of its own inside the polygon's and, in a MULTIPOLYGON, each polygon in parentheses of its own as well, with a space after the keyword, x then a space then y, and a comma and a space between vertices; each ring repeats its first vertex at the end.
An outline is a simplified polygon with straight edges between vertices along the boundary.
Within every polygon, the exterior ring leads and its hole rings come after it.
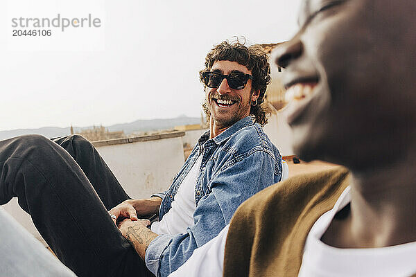
POLYGON ((171 209, 159 222, 153 222, 150 230, 157 234, 175 235, 186 233, 189 226, 193 226, 193 213, 196 209, 195 186, 202 162, 202 154, 184 177, 177 189, 171 209))

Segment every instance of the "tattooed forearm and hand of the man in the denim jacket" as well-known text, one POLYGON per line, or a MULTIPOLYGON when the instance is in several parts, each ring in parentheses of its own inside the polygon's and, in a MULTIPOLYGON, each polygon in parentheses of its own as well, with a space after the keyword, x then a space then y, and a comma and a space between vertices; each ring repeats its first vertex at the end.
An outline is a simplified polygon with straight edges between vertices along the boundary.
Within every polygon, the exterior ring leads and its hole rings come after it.
POLYGON ((119 222, 118 225, 123 237, 135 247, 136 252, 143 260, 150 242, 157 237, 157 233, 153 233, 146 227, 149 224, 149 220, 132 221, 127 218, 119 222))

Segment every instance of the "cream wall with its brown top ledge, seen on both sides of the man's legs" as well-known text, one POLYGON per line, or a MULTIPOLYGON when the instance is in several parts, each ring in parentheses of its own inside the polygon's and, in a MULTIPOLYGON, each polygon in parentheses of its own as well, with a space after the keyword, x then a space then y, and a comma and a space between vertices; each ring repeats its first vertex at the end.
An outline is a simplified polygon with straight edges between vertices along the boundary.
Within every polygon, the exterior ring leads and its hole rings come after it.
MULTIPOLYGON (((96 149, 132 198, 150 197, 166 190, 184 163, 184 132, 95 143, 96 149)), ((2 206, 35 238, 42 237, 17 198, 2 206)))

